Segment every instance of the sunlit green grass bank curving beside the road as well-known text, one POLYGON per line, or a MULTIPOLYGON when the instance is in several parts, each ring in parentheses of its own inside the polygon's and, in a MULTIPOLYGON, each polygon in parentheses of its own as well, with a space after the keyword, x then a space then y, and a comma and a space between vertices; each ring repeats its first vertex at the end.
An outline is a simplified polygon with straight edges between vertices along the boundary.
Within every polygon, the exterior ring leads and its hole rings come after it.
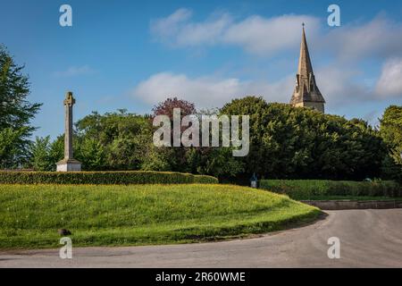
POLYGON ((222 240, 313 221, 321 212, 233 185, 0 185, 0 248, 222 240))

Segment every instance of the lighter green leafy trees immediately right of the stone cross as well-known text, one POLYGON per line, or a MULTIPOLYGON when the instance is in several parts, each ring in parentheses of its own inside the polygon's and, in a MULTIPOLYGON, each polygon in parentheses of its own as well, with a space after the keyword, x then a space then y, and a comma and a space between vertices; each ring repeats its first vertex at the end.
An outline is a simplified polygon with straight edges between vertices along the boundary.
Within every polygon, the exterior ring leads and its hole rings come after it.
POLYGON ((76 123, 75 156, 84 170, 139 170, 152 142, 151 123, 126 110, 92 113, 76 123))

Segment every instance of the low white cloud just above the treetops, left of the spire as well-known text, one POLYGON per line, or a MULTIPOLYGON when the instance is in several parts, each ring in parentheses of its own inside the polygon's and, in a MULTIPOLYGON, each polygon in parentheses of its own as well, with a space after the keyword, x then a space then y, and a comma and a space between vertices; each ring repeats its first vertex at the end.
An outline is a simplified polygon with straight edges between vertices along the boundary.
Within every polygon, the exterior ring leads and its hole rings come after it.
POLYGON ((268 101, 289 102, 293 82, 287 77, 275 83, 243 81, 236 78, 188 78, 185 74, 156 73, 132 90, 132 95, 155 105, 168 97, 180 97, 198 108, 221 107, 237 97, 263 96, 268 101))

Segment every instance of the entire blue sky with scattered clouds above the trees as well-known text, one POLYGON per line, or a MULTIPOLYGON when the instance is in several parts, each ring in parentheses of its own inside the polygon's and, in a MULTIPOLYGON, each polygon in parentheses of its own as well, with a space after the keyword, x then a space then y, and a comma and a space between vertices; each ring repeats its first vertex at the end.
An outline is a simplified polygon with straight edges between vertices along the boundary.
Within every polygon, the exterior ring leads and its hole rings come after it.
POLYGON ((63 132, 67 90, 75 120, 150 113, 172 96, 199 108, 246 95, 289 102, 303 21, 327 113, 375 124, 402 104, 399 1, 0 1, 0 42, 25 64, 30 101, 44 104, 38 136, 63 132), (59 25, 62 4, 72 27, 59 25), (340 27, 327 24, 330 4, 340 27))

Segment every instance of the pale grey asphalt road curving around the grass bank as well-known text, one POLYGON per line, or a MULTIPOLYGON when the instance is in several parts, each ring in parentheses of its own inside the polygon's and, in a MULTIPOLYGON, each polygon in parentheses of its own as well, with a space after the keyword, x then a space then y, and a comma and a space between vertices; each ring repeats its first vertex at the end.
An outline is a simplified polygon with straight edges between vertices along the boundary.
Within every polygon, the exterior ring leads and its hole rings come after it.
POLYGON ((185 245, 0 251, 0 267, 402 267, 402 209, 327 211, 316 223, 258 238, 185 245), (330 237, 340 258, 330 259, 330 237))

